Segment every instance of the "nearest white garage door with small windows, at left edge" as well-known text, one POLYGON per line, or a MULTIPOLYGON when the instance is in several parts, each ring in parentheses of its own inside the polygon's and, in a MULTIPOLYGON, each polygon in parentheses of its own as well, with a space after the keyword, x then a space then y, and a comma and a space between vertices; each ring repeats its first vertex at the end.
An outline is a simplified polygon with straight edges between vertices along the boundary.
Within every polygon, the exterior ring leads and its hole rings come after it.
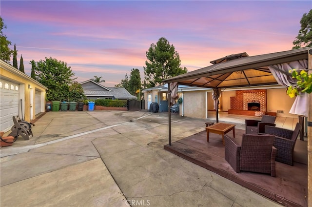
POLYGON ((0 131, 8 131, 19 115, 19 84, 0 80, 0 131))

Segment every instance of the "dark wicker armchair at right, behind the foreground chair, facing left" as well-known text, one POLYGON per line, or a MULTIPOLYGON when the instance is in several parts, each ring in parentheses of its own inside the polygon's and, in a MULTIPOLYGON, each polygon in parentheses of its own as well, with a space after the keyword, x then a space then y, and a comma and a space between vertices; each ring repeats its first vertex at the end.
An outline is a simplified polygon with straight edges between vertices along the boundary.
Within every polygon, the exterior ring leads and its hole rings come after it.
POLYGON ((273 145, 277 149, 275 161, 293 165, 292 155, 294 145, 301 131, 301 124, 297 123, 294 130, 265 126, 265 134, 273 134, 275 140, 273 145))

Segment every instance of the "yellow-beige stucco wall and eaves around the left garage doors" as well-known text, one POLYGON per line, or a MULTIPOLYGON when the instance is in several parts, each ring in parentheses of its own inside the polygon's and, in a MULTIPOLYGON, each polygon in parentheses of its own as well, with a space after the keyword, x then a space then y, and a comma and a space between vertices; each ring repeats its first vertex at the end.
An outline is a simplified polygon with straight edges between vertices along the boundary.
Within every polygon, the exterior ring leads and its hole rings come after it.
MULTIPOLYGON (((11 81, 13 83, 19 83, 20 85, 20 95, 19 98, 22 99, 23 107, 23 117, 25 121, 30 121, 36 118, 35 115, 35 90, 41 92, 42 107, 44 109, 45 105, 45 91, 46 87, 38 83, 37 81, 31 79, 29 76, 26 77, 26 74, 21 74, 19 70, 1 61, 0 64, 0 78, 11 81), (30 88, 28 88, 28 85, 30 88), (31 92, 32 91, 32 92, 31 92), (31 117, 32 115, 32 117, 31 117)), ((20 104, 20 103, 19 103, 20 104)), ((42 109, 42 110, 43 110, 42 109)), ((19 116, 21 117, 21 111, 19 116)))

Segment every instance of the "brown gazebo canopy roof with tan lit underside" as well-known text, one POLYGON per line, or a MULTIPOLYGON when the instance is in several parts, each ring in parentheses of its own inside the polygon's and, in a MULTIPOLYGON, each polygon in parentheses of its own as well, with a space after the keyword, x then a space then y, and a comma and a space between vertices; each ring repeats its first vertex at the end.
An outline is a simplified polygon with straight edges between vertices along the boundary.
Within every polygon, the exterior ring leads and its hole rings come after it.
MULTIPOLYGON (((217 59, 215 62, 218 63, 166 79, 163 82, 177 82, 178 84, 206 88, 277 85, 278 83, 268 66, 308 60, 308 51, 310 49, 312 47, 256 56, 248 56, 247 54, 244 55, 245 53, 240 53, 242 56, 234 60, 222 62, 221 59, 223 60, 224 58, 217 59)), ((233 56, 231 55, 231 57, 233 56)))

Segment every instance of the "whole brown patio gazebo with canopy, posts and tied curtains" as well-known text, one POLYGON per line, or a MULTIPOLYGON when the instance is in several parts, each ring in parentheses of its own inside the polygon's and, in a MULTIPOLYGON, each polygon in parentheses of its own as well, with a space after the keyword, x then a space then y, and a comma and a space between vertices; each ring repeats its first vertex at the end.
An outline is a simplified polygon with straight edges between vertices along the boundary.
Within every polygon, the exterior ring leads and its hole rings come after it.
MULTIPOLYGON (((312 47, 289 51, 248 56, 246 53, 229 55, 211 62, 212 65, 164 80, 168 83, 171 102, 176 98, 178 84, 213 88, 215 110, 218 113, 218 98, 222 88, 257 85, 296 84, 289 70, 312 72, 312 47), (310 69, 309 69, 310 68, 310 69)), ((169 104, 170 107, 170 104, 169 104)), ((312 94, 297 96, 291 113, 308 117, 308 203, 312 202, 312 94), (304 110, 301 110, 304 109, 304 110)), ((218 114, 216 115, 218 117, 218 114)), ((218 119, 216 120, 218 122, 218 119)), ((169 110, 169 145, 171 145, 171 113, 169 110)))

